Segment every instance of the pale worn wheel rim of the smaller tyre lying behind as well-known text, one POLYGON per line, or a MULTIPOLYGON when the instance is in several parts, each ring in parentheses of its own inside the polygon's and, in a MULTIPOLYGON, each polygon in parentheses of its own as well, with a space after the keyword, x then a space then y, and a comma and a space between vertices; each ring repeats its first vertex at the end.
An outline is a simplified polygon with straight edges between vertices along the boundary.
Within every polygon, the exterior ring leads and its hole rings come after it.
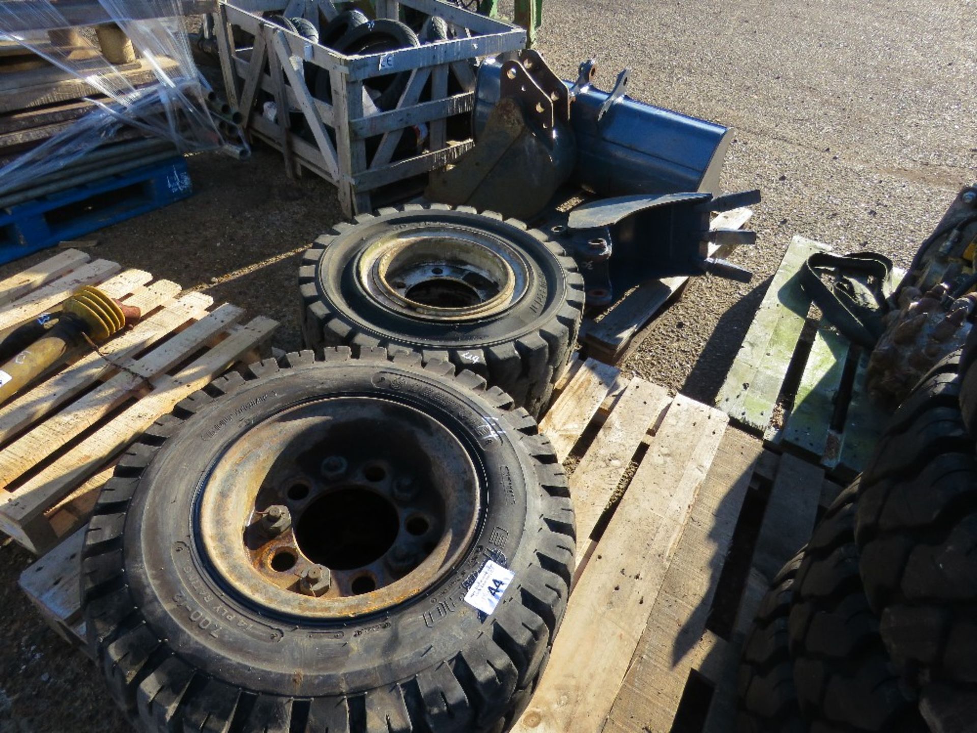
POLYGON ((464 227, 406 227, 371 243, 362 286, 391 310, 430 321, 501 313, 526 293, 529 268, 502 238, 464 227))

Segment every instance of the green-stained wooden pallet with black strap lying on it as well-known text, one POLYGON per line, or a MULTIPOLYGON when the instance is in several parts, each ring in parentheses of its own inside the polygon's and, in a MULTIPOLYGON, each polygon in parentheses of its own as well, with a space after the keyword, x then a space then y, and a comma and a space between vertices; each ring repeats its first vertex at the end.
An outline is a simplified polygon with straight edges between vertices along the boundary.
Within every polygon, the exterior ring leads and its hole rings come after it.
POLYGON ((817 320, 800 287, 805 260, 828 250, 804 237, 790 241, 716 406, 770 444, 810 456, 848 480, 871 455, 889 411, 865 389, 868 354, 817 320), (802 338, 805 330, 811 335, 802 338))

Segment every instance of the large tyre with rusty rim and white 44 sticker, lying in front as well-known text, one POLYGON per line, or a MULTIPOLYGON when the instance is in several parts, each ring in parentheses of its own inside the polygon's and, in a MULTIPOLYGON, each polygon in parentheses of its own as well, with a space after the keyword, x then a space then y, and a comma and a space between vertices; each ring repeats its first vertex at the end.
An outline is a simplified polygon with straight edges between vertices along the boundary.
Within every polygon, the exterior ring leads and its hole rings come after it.
POLYGON ((120 460, 89 526, 93 656, 139 730, 499 733, 573 573, 526 410, 419 354, 222 377, 120 460))

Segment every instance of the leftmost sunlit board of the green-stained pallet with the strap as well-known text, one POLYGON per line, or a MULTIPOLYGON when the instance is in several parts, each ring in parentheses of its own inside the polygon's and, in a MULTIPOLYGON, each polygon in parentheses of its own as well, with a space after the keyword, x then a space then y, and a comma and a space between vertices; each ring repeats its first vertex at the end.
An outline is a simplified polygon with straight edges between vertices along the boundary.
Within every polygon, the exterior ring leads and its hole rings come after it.
POLYGON ((716 397, 716 407, 743 425, 762 432, 770 424, 811 306, 797 274, 808 257, 828 249, 826 244, 795 235, 746 331, 716 397))

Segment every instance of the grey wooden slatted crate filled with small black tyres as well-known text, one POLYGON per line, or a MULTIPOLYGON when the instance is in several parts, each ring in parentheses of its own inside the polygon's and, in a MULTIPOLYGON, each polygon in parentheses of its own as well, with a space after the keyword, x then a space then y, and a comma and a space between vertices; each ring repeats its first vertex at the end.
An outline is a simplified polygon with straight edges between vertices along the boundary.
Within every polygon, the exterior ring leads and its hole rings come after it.
POLYGON ((468 151, 473 145, 470 138, 446 137, 446 118, 474 107, 475 75, 468 63, 526 45, 525 30, 442 0, 378 0, 375 5, 380 18, 398 18, 400 5, 405 5, 441 16, 474 35, 351 57, 311 43, 262 17, 263 13, 281 14, 296 8, 300 11, 296 15, 304 13, 308 20, 319 23, 320 17, 331 19, 336 12, 325 0, 297 5, 287 0, 222 1, 215 25, 228 99, 244 115, 242 127, 282 151, 290 175, 305 168, 336 186, 347 216, 370 212, 374 208, 371 194, 378 189, 441 168, 468 151), (233 28, 254 36, 254 45, 237 48, 233 28), (292 67, 292 57, 315 66, 319 74, 329 74, 331 104, 313 97, 304 75, 292 67), (410 73, 397 108, 366 114, 363 81, 393 72, 410 73), (448 94, 449 74, 463 92, 448 94), (429 81, 431 99, 419 102, 429 81), (288 114, 278 113, 273 122, 255 109, 259 90, 275 98, 278 110, 300 109, 315 144, 292 132, 288 114), (430 125, 427 151, 393 160, 404 129, 422 123, 430 125), (367 159, 366 141, 371 138, 379 139, 379 145, 367 159))

